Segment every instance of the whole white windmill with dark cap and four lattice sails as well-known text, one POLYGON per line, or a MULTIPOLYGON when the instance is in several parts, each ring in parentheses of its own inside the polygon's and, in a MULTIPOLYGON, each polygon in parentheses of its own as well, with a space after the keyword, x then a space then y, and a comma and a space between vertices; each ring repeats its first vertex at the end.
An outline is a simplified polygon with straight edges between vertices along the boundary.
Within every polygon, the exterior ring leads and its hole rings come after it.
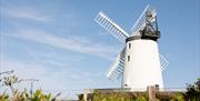
POLYGON ((157 12, 147 6, 129 36, 121 27, 102 11, 94 18, 102 28, 122 43, 124 49, 118 54, 107 77, 117 80, 122 77, 122 88, 131 91, 143 91, 148 85, 163 88, 162 70, 168 61, 158 50, 157 12))

